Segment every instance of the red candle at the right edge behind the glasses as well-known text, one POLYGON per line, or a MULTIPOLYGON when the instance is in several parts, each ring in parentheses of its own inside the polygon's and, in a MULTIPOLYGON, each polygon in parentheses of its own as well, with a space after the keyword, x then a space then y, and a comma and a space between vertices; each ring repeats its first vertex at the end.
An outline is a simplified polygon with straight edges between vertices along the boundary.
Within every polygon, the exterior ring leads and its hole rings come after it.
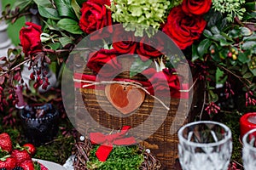
POLYGON ((248 131, 256 128, 256 112, 249 112, 240 118, 240 140, 248 131))

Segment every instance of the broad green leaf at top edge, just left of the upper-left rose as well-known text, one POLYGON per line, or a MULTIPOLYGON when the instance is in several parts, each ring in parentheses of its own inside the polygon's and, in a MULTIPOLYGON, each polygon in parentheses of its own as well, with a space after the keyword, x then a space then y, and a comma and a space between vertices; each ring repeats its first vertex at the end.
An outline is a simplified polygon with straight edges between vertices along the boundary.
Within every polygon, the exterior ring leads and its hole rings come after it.
POLYGON ((55 0, 56 8, 61 16, 67 16, 76 19, 73 8, 71 6, 71 0, 55 0))

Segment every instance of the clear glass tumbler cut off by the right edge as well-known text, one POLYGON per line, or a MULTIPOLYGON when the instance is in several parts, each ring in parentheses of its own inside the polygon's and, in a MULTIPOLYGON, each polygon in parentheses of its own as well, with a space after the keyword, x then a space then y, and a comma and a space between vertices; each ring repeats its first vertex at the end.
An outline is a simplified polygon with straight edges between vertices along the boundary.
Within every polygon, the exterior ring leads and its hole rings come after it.
POLYGON ((242 137, 242 162, 245 170, 256 169, 256 128, 242 137))

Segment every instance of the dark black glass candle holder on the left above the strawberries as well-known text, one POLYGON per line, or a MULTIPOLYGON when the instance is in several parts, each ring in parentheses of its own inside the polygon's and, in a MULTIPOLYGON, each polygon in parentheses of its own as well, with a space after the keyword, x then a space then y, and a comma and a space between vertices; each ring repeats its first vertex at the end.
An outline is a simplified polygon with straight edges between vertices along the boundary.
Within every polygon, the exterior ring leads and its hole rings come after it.
POLYGON ((20 119, 27 141, 36 146, 53 140, 58 133, 59 112, 50 104, 25 107, 25 109, 20 110, 20 119), (40 118, 32 116, 31 108, 38 110, 45 107, 48 107, 48 110, 44 116, 40 118))

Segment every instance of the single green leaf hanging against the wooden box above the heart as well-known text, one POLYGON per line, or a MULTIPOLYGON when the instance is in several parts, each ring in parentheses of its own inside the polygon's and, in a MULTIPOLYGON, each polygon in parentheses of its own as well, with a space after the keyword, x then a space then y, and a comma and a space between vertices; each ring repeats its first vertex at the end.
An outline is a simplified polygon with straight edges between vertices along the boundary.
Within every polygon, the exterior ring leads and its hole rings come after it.
POLYGON ((147 61, 143 62, 143 60, 137 56, 135 58, 135 61, 131 65, 130 77, 134 77, 135 75, 137 75, 137 73, 143 72, 145 69, 148 68, 149 65, 151 65, 151 63, 151 59, 148 59, 147 61))

